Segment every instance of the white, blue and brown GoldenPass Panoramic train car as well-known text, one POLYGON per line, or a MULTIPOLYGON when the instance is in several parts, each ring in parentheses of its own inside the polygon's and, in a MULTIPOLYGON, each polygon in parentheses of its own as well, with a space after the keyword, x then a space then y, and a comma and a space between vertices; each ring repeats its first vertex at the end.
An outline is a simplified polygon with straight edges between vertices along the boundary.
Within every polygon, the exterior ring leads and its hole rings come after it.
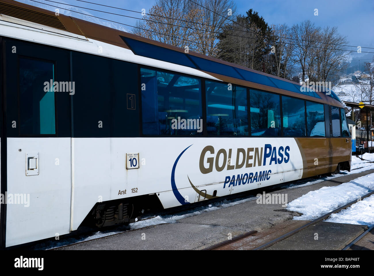
POLYGON ((11 0, 0 25, 3 247, 350 169, 332 91, 11 0))

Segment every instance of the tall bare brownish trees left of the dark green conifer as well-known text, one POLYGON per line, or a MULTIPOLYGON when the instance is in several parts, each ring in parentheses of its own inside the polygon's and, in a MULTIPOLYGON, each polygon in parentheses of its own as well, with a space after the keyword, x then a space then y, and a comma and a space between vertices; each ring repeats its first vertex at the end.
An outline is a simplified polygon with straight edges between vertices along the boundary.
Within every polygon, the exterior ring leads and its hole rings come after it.
POLYGON ((217 56, 217 35, 236 11, 232 0, 156 0, 136 23, 133 33, 142 37, 188 47, 203 55, 217 56), (206 8, 204 8, 206 7, 206 8))

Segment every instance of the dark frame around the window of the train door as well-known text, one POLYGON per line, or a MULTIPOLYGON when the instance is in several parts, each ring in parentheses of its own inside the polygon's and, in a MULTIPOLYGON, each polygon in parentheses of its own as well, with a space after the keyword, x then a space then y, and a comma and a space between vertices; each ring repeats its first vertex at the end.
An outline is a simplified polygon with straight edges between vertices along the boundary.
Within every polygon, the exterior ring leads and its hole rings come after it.
POLYGON ((53 81, 56 81, 56 76, 57 76, 57 68, 56 68, 56 61, 55 60, 49 60, 49 59, 42 59, 42 58, 36 58, 34 56, 24 56, 24 55, 18 55, 17 56, 17 113, 18 113, 18 137, 58 137, 58 118, 57 118, 57 92, 54 91, 54 102, 55 102, 55 134, 21 134, 21 114, 19 112, 20 110, 20 100, 21 100, 21 95, 20 95, 20 75, 19 75, 19 63, 20 59, 31 59, 35 61, 42 61, 42 62, 49 62, 53 63, 53 76, 55 76, 55 79, 53 81))

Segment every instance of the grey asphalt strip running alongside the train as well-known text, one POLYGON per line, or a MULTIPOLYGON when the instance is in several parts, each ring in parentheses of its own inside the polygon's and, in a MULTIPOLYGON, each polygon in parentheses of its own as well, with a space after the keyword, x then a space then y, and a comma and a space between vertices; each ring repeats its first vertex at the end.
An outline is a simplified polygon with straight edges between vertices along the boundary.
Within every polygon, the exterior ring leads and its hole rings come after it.
MULTIPOLYGON (((358 174, 343 175, 313 185, 280 189, 271 193, 287 194, 287 201, 291 202, 309 191, 318 190, 325 186, 336 186, 371 173, 374 173, 374 169, 358 174)), ((176 223, 148 226, 101 239, 65 246, 57 250, 204 249, 227 240, 229 235, 235 237, 251 230, 262 231, 270 229, 299 215, 286 210, 282 204, 257 204, 256 199, 254 197, 253 200, 234 206, 203 212, 202 214, 178 220, 176 223)), ((358 226, 353 226, 353 228, 355 227, 357 228, 358 226)), ((274 249, 276 248, 274 247, 274 249)), ((313 247, 313 249, 317 248, 313 247)))

